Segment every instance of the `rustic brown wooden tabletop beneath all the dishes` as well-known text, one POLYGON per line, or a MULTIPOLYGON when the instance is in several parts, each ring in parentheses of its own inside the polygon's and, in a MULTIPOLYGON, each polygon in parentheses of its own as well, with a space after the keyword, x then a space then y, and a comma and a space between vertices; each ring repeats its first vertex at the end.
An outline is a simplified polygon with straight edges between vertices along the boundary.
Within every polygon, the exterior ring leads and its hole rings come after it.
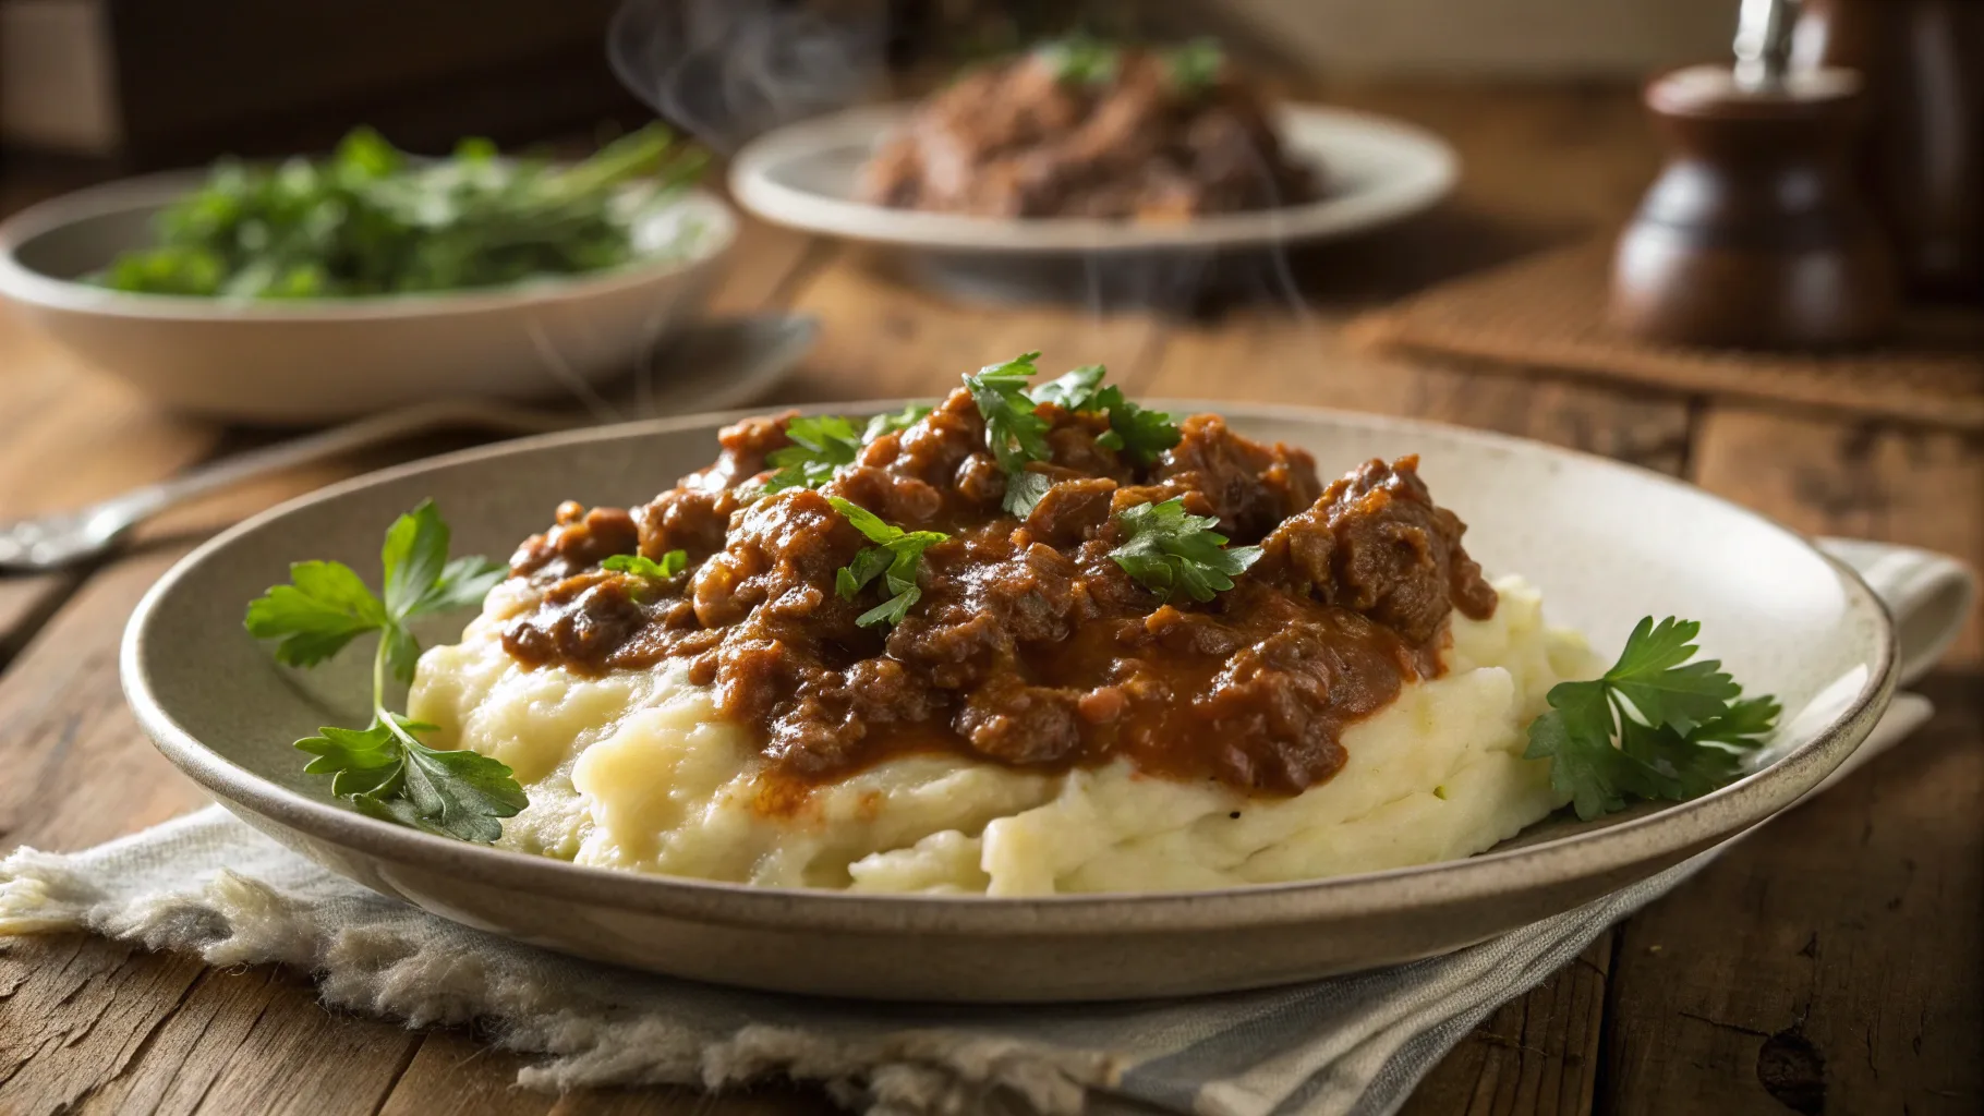
MULTIPOLYGON (((825 321, 782 398, 936 391, 1044 349, 1107 361, 1143 394, 1290 400, 1526 434, 1684 476, 1813 533, 1984 563, 1984 442, 1544 375, 1413 367, 1347 349, 1355 309, 1625 216, 1657 153, 1625 89, 1345 87, 1335 99, 1456 141, 1442 212, 1307 262, 1315 307, 1216 319, 1129 307, 988 307, 837 244, 750 228, 722 311, 825 321)), ((18 204, 20 198, 14 198, 18 204)), ((73 505, 240 444, 81 375, 0 321, 0 517, 73 505)), ((0 848, 79 848, 200 803, 117 696, 117 636, 200 537, 274 500, 391 460, 230 494, 151 525, 83 573, 0 579, 0 848)), ((1768 827, 1575 963, 1496 1011, 1411 1112, 1974 1112, 1984 1104, 1980 638, 1926 686, 1907 747, 1768 827)), ((474 1035, 319 1007, 310 981, 218 971, 89 938, 0 953, 0 1112, 823 1112, 806 1088, 542 1096, 474 1035)))

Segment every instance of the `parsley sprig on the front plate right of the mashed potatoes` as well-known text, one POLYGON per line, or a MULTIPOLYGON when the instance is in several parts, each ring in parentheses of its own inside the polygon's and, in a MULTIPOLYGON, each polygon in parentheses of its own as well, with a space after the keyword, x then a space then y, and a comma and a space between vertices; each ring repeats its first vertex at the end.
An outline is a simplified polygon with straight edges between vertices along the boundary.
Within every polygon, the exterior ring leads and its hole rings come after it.
POLYGON ((1629 799, 1684 801, 1742 773, 1782 708, 1742 698, 1722 662, 1688 662, 1696 620, 1647 616, 1613 664, 1591 682, 1550 688, 1550 710, 1530 724, 1526 759, 1550 759, 1550 785, 1577 817, 1625 809, 1629 799))

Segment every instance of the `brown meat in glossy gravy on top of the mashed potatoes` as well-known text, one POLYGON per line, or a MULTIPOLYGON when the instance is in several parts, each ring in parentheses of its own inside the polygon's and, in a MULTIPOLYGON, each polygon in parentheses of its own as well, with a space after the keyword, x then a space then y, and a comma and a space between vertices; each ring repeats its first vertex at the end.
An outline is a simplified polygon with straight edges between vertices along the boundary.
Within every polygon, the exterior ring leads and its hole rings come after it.
POLYGON ((1180 424, 1159 462, 1099 446, 1101 416, 1042 404, 1054 486, 1026 519, 1000 511, 1004 474, 968 392, 867 444, 821 490, 758 494, 786 416, 722 432, 722 456, 633 511, 565 503, 518 549, 542 603, 510 620, 508 652, 585 674, 688 662, 722 714, 760 733, 788 785, 909 751, 1026 769, 1115 757, 1173 779, 1290 795, 1343 767, 1347 724, 1440 670, 1454 609, 1496 595, 1432 503, 1415 458, 1373 460, 1323 488, 1309 454, 1262 446, 1214 414, 1180 424), (893 630, 855 622, 877 601, 835 595, 867 541, 825 496, 905 529, 923 599, 893 630), (1260 561, 1210 603, 1163 603, 1109 551, 1113 513, 1182 496, 1260 561), (599 569, 639 551, 688 553, 686 575, 599 569))

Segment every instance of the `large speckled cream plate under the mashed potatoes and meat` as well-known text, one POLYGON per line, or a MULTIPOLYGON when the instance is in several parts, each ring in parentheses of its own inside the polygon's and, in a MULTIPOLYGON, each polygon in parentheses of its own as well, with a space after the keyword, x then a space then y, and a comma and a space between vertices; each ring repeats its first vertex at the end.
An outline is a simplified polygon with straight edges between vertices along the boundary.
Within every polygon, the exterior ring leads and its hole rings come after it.
MULTIPOLYGON (((869 412, 881 404, 851 404, 869 412)), ((1893 628, 1845 567, 1686 484, 1534 442, 1300 408, 1220 406, 1307 446, 1325 476, 1419 452, 1490 573, 1524 573, 1607 656, 1643 614, 1702 620, 1704 650, 1790 714, 1760 771, 1599 823, 1544 821, 1482 856, 1194 894, 986 900, 770 890, 579 868, 359 817, 290 747, 363 720, 365 656, 298 674, 242 630, 288 563, 375 569, 423 498, 458 553, 504 555, 561 500, 635 503, 706 464, 722 416, 530 438, 341 484, 206 543, 145 597, 123 680, 159 747, 234 813, 379 892, 524 942, 722 983, 895 999, 1178 995, 1425 957, 1569 910, 1792 805, 1867 735, 1893 628)), ((450 628, 427 632, 448 638, 450 628)))

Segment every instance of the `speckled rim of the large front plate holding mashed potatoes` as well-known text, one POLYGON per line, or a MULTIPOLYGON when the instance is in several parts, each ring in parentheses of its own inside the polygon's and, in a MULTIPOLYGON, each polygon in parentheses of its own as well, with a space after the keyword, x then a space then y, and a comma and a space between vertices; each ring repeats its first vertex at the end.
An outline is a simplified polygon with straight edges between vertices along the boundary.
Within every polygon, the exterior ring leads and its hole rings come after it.
MULTIPOLYGON (((462 880, 524 890, 552 900, 690 918, 708 924, 758 926, 778 922, 784 928, 855 934, 1115 934, 1129 928, 1192 932, 1232 926, 1302 924, 1319 918, 1349 918, 1357 914, 1395 912, 1417 906, 1438 906, 1470 898, 1492 898, 1522 892, 1551 882, 1605 876, 1647 860, 1674 860, 1686 852, 1734 837, 1778 811, 1790 807, 1833 771, 1873 731, 1887 708, 1899 672, 1895 622, 1881 599, 1845 563, 1813 547, 1803 535, 1746 507, 1728 503, 1676 478, 1548 446, 1528 438, 1470 430, 1442 422, 1371 416, 1327 408, 1266 406, 1204 400, 1157 400, 1188 408, 1218 408, 1228 418, 1260 420, 1323 420, 1363 424, 1399 434, 1438 434, 1502 448, 1504 452, 1553 454, 1577 460, 1583 468, 1633 474, 1692 492, 1702 500, 1724 503, 1740 515, 1784 533, 1796 545, 1811 551, 1839 577, 1849 609, 1875 618, 1881 638, 1867 678, 1841 712, 1811 739, 1786 753, 1776 763, 1722 787, 1700 799, 1667 805, 1643 817, 1601 829, 1565 835, 1520 848, 1490 850, 1462 860, 1440 860, 1411 868, 1361 872, 1288 884, 1252 884, 1202 892, 1125 892, 1042 898, 986 896, 877 896, 806 888, 762 888, 690 880, 681 876, 647 876, 611 868, 589 868, 510 852, 480 844, 464 844, 442 837, 373 821, 329 801, 280 787, 208 749, 188 733, 153 696, 141 670, 147 628, 159 603, 210 555, 234 539, 280 519, 298 507, 335 500, 371 484, 417 476, 427 470, 460 462, 478 462, 550 446, 579 446, 629 436, 667 434, 706 428, 752 414, 754 410, 706 412, 615 426, 595 426, 559 434, 518 438, 442 454, 405 466, 365 474, 313 494, 290 500, 262 511, 228 531, 208 539, 161 577, 131 614, 119 650, 119 674, 125 698, 139 725, 159 751, 181 771, 212 791, 224 803, 260 815, 280 827, 290 827, 311 838, 345 846, 391 862, 415 864, 448 872, 462 880)), ((889 400, 857 404, 807 404, 809 412, 873 410, 889 400)))

